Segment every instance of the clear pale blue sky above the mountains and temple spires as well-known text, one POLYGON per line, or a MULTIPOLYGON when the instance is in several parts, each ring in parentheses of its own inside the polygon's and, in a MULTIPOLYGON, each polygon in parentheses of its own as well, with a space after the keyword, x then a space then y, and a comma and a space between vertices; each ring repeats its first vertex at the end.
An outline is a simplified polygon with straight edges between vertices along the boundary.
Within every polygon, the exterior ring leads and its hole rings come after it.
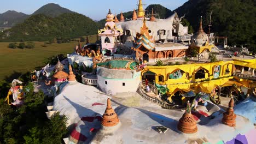
MULTIPOLYGON (((161 4, 164 7, 174 10, 188 0, 142 0, 143 8, 149 4, 161 4)), ((63 8, 86 15, 92 20, 101 20, 106 17, 108 9, 113 14, 121 11, 131 11, 137 8, 138 0, 1 0, 0 13, 7 10, 15 10, 25 14, 32 14, 45 4, 55 3, 63 8)))

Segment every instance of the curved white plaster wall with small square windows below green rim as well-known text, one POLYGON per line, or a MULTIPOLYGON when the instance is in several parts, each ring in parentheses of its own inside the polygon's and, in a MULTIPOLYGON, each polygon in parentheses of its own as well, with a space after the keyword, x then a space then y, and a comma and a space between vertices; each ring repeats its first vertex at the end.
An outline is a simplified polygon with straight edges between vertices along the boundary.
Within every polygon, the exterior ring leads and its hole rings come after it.
MULTIPOLYGON (((140 76, 140 74, 139 74, 140 76)), ((105 79, 102 76, 97 75, 98 79, 98 86, 101 90, 107 94, 116 94, 116 93, 123 93, 123 92, 136 92, 140 78, 136 76, 134 79, 105 79), (105 84, 107 81, 107 85, 105 84), (125 86, 123 86, 123 82, 125 86)))

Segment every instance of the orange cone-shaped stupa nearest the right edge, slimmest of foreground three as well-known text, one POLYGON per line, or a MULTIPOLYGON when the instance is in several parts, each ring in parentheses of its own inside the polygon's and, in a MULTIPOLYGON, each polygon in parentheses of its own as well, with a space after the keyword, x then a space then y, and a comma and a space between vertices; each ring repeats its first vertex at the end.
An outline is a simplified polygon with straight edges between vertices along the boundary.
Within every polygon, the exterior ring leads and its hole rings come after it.
POLYGON ((230 127, 236 126, 236 114, 234 113, 234 99, 231 98, 229 101, 229 108, 223 113, 222 123, 229 125, 230 127))

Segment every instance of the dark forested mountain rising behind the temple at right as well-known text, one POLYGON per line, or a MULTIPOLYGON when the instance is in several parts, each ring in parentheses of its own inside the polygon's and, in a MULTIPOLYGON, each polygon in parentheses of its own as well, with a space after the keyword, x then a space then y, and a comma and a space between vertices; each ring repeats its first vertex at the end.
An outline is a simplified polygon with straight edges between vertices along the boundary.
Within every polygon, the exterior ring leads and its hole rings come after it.
POLYGON ((254 3, 253 0, 189 0, 174 11, 178 15, 185 14, 195 30, 202 16, 205 32, 208 32, 212 11, 211 32, 228 36, 229 45, 250 44, 252 50, 256 39, 254 3))

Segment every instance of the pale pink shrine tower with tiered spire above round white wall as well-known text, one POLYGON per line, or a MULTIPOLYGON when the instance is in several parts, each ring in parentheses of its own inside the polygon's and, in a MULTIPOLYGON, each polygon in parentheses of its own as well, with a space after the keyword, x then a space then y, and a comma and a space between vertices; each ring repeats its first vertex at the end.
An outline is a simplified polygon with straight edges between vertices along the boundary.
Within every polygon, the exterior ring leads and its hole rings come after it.
POLYGON ((98 36, 101 37, 102 53, 106 53, 106 50, 110 50, 113 55, 117 50, 117 44, 120 43, 120 37, 123 35, 123 29, 118 29, 115 26, 115 22, 118 20, 114 20, 114 15, 111 13, 110 9, 108 11, 106 21, 105 27, 98 30, 98 36))

